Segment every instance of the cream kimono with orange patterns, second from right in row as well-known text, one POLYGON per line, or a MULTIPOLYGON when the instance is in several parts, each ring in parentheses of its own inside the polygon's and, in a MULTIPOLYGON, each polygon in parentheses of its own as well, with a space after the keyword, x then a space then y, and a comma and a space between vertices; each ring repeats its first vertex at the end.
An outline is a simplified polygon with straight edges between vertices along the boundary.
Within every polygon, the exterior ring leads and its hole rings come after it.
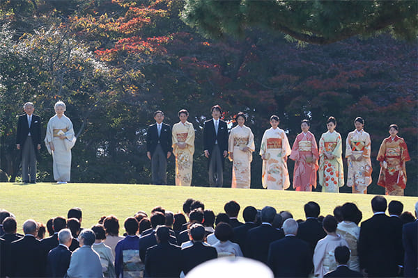
POLYGON ((371 141, 366 131, 351 131, 347 136, 346 158, 348 163, 347 186, 353 193, 367 194, 367 186, 371 183, 371 141), (353 161, 351 156, 359 161, 353 161))

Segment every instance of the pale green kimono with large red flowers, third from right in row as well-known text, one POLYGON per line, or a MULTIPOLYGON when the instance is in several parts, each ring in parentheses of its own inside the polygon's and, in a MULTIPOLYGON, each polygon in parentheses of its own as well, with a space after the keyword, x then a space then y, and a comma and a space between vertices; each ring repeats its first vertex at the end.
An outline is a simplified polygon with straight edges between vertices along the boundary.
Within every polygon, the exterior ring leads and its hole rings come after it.
POLYGON ((343 147, 341 135, 334 131, 327 131, 319 140, 319 183, 323 192, 339 193, 339 188, 344 185, 343 159, 341 158, 343 147), (335 158, 328 159, 325 152, 333 154, 335 158))

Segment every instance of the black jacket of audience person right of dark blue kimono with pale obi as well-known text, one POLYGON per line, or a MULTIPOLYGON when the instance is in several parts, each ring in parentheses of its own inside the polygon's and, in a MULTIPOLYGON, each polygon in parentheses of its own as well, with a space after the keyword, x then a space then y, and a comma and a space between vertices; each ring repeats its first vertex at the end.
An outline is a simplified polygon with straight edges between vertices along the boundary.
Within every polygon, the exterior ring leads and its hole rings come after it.
POLYGON ((145 255, 144 277, 179 277, 181 248, 171 243, 149 247, 145 255))

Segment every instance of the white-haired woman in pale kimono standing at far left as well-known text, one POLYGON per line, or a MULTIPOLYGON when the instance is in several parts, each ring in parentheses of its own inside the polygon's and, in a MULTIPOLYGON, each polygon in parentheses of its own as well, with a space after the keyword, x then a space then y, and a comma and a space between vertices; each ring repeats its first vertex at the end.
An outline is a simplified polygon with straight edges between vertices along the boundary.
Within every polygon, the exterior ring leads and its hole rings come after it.
POLYGON ((72 122, 64 115, 65 104, 58 101, 55 106, 54 117, 49 119, 45 145, 54 161, 54 180, 57 183, 70 181, 71 149, 75 145, 75 135, 72 122))

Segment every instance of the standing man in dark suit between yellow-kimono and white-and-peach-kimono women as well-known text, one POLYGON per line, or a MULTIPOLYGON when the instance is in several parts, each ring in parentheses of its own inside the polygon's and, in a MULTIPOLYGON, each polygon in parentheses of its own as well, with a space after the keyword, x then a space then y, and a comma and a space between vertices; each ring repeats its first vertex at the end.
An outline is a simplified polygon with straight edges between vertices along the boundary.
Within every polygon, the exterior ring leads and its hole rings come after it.
POLYGON ((203 149, 208 160, 209 185, 222 187, 224 184, 224 162, 228 156, 228 126, 220 120, 222 108, 212 106, 212 119, 203 124, 203 149))

